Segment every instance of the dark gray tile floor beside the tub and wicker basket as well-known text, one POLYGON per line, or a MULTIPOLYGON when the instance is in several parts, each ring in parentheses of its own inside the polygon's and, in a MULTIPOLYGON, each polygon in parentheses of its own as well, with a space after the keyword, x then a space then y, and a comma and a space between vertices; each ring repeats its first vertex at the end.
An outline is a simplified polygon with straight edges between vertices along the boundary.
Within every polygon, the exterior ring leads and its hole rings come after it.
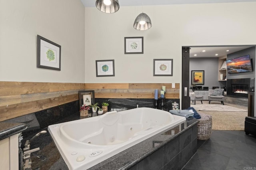
POLYGON ((256 136, 244 131, 212 130, 182 170, 256 170, 256 136))

